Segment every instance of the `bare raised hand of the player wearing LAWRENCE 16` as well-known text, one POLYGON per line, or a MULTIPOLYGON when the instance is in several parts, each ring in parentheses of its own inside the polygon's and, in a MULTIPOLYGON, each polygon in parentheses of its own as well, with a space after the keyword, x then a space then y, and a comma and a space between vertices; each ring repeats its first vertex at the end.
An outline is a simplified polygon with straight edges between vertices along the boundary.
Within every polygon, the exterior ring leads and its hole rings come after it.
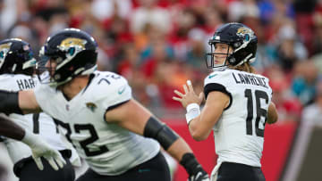
POLYGON ((194 92, 191 80, 187 81, 187 85, 183 85, 183 90, 184 94, 178 90, 174 90, 175 95, 178 97, 173 97, 175 101, 182 103, 183 108, 186 108, 190 103, 198 103, 200 105, 200 103, 202 103, 204 100, 204 94, 202 92, 199 95, 196 95, 194 92))

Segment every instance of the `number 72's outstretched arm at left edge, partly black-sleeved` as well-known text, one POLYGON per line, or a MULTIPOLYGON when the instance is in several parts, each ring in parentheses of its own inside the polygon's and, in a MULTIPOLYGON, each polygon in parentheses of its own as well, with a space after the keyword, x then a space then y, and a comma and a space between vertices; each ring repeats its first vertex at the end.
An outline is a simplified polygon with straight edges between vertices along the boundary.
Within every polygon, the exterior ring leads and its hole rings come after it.
POLYGON ((41 111, 33 90, 19 92, 0 90, 0 100, 0 112, 6 114, 27 114, 41 111))

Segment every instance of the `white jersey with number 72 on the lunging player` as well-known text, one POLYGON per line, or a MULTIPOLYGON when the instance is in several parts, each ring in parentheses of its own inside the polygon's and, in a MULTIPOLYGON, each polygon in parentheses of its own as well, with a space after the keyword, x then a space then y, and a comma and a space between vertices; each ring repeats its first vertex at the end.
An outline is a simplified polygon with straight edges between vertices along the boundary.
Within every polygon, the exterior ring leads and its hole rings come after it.
POLYGON ((64 129, 80 157, 101 175, 119 175, 157 155, 160 145, 105 120, 106 111, 131 100, 131 87, 122 76, 95 71, 89 85, 67 101, 47 85, 37 86, 36 99, 43 111, 64 129))

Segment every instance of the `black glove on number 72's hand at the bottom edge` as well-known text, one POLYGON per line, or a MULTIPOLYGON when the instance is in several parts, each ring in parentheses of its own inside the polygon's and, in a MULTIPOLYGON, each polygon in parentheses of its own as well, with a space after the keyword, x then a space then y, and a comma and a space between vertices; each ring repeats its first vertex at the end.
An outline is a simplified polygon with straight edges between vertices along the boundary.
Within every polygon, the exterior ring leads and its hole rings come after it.
POLYGON ((180 164, 189 174, 188 181, 209 181, 207 172, 202 169, 193 153, 188 152, 182 156, 180 164))

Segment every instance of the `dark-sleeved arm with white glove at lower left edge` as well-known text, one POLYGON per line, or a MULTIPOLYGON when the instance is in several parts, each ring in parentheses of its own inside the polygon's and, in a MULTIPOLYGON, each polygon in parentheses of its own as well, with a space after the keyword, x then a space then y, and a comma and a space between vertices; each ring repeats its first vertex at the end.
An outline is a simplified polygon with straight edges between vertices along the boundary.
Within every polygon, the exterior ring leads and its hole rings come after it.
POLYGON ((40 157, 44 157, 55 170, 57 170, 58 167, 63 168, 66 163, 58 151, 42 141, 39 136, 25 131, 4 114, 0 114, 0 135, 29 145, 32 152, 32 158, 35 160, 38 169, 44 169, 40 157))

